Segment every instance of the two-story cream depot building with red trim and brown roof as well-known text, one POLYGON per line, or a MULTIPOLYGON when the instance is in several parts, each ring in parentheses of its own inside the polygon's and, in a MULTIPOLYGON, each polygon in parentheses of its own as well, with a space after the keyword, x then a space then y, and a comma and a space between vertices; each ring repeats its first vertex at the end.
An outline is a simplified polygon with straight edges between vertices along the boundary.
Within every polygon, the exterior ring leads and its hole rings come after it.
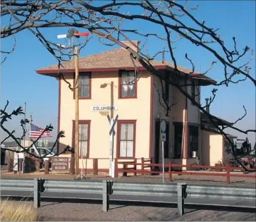
MULTIPOLYGON (((126 42, 126 44, 128 44, 126 42)), ((138 42, 134 42, 138 45, 138 42)), ((134 46, 131 46, 133 47, 134 46)), ((136 48, 134 48, 136 50, 136 48)), ((79 128, 80 128, 80 168, 92 169, 92 159, 99 159, 99 171, 109 168, 109 121, 107 107, 114 106, 114 118, 118 114, 114 136, 114 158, 141 159, 152 158, 154 163, 161 163, 160 120, 167 122, 167 136, 164 147, 164 161, 194 164, 193 152, 200 157, 201 164, 212 164, 220 160, 217 152, 205 152, 205 147, 213 141, 205 137, 207 132, 200 130, 200 111, 189 99, 171 85, 165 85, 159 78, 151 75, 142 65, 130 57, 126 49, 113 49, 99 54, 85 56, 79 60, 79 128), (135 66, 134 66, 135 64, 135 66), (136 67, 136 68, 135 68, 136 67), (135 74, 135 70, 137 73, 135 74), (138 78, 134 78, 137 75, 138 78), (163 83, 163 90, 161 87, 163 83), (166 116, 166 109, 161 104, 161 97, 169 101, 171 111, 166 116), (106 107, 99 111, 99 107, 106 107), (202 151, 204 150, 204 151, 202 151), (214 156, 206 161, 204 156, 214 156), (83 159, 82 159, 83 157, 83 159)), ((169 80, 176 78, 173 66, 165 61, 152 61, 152 66, 161 71, 169 80)), ((178 68, 182 75, 181 84, 187 81, 188 94, 200 101, 200 87, 212 85, 214 80, 190 70, 178 68)), ((48 66, 37 73, 55 77, 59 80, 59 115, 58 130, 64 130, 66 137, 60 139, 59 149, 67 145, 74 147, 75 97, 70 89, 74 85, 74 61, 62 63, 59 75, 58 66, 48 66), (71 83, 68 87, 66 81, 71 83)), ((222 137, 222 136, 221 136, 222 137)), ((218 138, 218 140, 221 140, 218 138)), ((219 143, 217 143, 219 144, 219 143)), ((208 148, 207 148, 208 149, 208 148)), ((220 149, 222 155, 222 147, 220 149)), ((68 154, 69 155, 69 154, 68 154)))

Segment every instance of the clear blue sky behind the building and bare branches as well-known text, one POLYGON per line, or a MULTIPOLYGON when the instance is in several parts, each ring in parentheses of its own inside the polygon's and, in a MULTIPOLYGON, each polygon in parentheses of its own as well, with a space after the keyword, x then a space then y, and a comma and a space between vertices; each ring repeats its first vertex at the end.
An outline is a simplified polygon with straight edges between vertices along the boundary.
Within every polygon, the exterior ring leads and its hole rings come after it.
MULTIPOLYGON (((199 5, 197 11, 194 11, 196 18, 205 20, 209 27, 219 28, 218 33, 228 46, 232 46, 232 37, 235 36, 238 49, 243 49, 245 45, 248 45, 250 49, 255 49, 255 1, 191 2, 191 5, 194 4, 199 5)), ((147 26, 141 21, 129 23, 128 26, 145 33, 148 30, 163 33, 162 27, 147 26)), ((51 28, 44 30, 44 35, 54 40, 54 42, 58 42, 56 35, 64 34, 67 30, 68 28, 51 28)), ((128 37, 135 40, 133 35, 128 35, 128 37)), ((51 123, 55 127, 53 135, 56 135, 58 82, 54 78, 47 78, 35 73, 37 68, 54 64, 56 60, 30 32, 20 32, 16 35, 16 38, 16 50, 13 54, 8 55, 6 62, 1 66, 1 109, 6 104, 7 99, 10 101, 9 111, 17 106, 23 106, 26 101, 27 114, 32 113, 34 123, 42 127, 51 123)), ((59 40, 59 43, 61 41, 59 40)), ((11 49, 12 44, 13 39, 11 37, 4 39, 1 41, 1 48, 2 50, 11 49)), ((148 47, 150 47, 150 52, 154 54, 161 47, 161 44, 153 42, 151 39, 148 47)), ((97 38, 93 38, 80 55, 95 54, 109 49, 111 47, 106 47, 100 44, 97 38)), ((205 70, 212 62, 212 57, 205 54, 204 50, 181 42, 177 44, 175 49, 178 65, 190 68, 190 63, 184 59, 186 52, 195 61, 196 70, 200 70, 200 66, 202 66, 202 70, 205 70)), ((157 59, 160 60, 161 56, 157 59)), ((169 59, 169 56, 166 56, 167 59, 169 59)), ((252 68, 251 73, 255 76, 255 56, 250 66, 252 68)), ((217 65, 209 73, 209 76, 215 80, 220 80, 223 77, 222 66, 217 65)), ((205 87, 202 90, 202 103, 205 102, 205 97, 211 95, 209 91, 211 89, 212 87, 205 87)), ((219 87, 217 99, 211 107, 211 112, 227 121, 235 121, 238 116, 243 115, 243 105, 248 110, 248 116, 237 126, 243 129, 255 129, 255 87, 251 82, 243 82, 230 87, 219 87)), ((18 129, 19 121, 20 118, 14 118, 6 125, 10 129, 18 129)), ((20 132, 20 130, 17 132, 20 132)), ((240 136, 236 132, 229 132, 240 136)), ((1 132, 0 139, 2 137, 3 133, 1 132)), ((255 141, 255 135, 250 134, 249 138, 250 142, 255 141)))

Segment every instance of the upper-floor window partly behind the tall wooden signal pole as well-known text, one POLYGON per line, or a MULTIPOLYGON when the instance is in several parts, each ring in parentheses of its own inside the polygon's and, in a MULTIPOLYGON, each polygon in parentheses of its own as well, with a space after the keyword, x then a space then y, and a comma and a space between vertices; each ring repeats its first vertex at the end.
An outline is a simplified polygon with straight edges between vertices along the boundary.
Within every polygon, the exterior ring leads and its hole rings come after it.
MULTIPOLYGON (((75 78, 74 78, 75 85, 75 78)), ((78 87, 79 99, 91 99, 91 73, 79 73, 79 87, 78 87)), ((74 90, 75 99, 75 90, 74 90)))

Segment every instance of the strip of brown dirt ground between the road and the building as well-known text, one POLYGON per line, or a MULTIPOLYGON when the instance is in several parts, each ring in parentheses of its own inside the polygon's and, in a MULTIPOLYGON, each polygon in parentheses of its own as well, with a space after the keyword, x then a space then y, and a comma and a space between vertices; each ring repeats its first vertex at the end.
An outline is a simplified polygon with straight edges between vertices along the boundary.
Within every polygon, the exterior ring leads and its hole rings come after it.
MULTIPOLYGON (((172 175, 172 181, 170 182, 168 176, 165 176, 165 183, 188 183, 188 184, 202 184, 202 185, 227 185, 226 176, 214 176, 213 175, 172 175)), ((241 174, 243 173, 236 173, 241 174)), ((255 175, 256 173, 250 173, 250 175, 255 175)), ((74 175, 69 174, 54 174, 44 175, 42 173, 26 173, 26 174, 14 174, 14 173, 1 173, 1 178, 46 178, 52 180, 74 180, 74 175)), ((106 173, 99 175, 87 174, 88 180, 110 180, 106 173)), ((120 176, 119 178, 113 178, 112 180, 127 181, 134 183, 162 183, 161 175, 128 175, 127 177, 120 176)), ((245 187, 255 187, 255 178, 241 178, 232 177, 231 173, 231 186, 245 186, 245 187)))

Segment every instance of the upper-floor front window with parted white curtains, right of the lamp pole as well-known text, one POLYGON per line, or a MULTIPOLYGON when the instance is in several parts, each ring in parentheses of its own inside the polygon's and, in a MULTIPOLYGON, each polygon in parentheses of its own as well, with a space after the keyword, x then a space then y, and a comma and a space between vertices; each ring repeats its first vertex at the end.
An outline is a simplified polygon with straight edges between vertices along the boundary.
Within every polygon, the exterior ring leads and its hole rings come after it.
POLYGON ((137 80, 134 71, 119 72, 119 99, 137 97, 137 80))

